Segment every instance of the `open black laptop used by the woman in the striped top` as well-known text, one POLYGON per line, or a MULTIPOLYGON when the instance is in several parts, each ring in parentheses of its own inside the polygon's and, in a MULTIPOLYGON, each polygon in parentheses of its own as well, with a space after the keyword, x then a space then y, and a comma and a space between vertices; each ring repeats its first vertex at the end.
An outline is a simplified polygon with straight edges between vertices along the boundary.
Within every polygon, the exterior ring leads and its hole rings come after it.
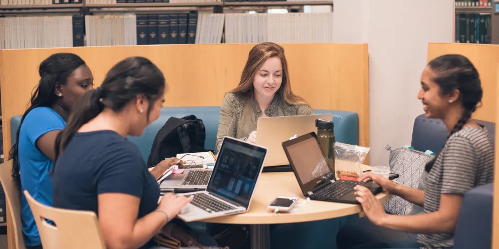
POLYGON ((353 190, 356 185, 367 187, 374 195, 382 191, 382 187, 372 181, 336 180, 315 132, 285 141, 282 147, 303 195, 311 200, 359 204, 353 190))

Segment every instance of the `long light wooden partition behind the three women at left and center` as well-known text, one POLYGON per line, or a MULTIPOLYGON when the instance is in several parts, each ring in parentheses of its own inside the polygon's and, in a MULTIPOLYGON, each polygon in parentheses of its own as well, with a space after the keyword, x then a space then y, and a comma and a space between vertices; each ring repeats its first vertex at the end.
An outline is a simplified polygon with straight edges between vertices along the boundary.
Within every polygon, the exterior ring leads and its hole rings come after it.
MULTIPOLYGON (((254 44, 151 45, 0 51, 5 154, 11 147, 10 118, 22 114, 39 81, 38 66, 53 53, 81 56, 100 85, 107 71, 129 56, 144 56, 164 73, 165 106, 220 106, 234 88, 254 44)), ((356 112, 359 144, 369 146, 367 44, 282 44, 293 91, 312 108, 356 112)))

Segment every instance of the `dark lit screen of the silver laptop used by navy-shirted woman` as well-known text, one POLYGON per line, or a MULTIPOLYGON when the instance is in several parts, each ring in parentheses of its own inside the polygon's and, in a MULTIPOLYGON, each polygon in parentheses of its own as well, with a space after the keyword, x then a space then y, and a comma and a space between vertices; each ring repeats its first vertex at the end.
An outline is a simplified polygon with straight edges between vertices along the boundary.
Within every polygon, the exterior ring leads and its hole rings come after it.
POLYGON ((225 138, 206 190, 248 208, 265 154, 264 148, 225 138))

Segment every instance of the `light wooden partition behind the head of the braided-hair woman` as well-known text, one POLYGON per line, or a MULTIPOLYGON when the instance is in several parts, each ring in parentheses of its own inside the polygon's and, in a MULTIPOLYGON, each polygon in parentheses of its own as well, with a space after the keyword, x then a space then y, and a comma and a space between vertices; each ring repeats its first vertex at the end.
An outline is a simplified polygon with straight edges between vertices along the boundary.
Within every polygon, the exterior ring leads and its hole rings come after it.
POLYGON ((479 120, 496 122, 496 93, 498 85, 499 45, 429 43, 428 61, 444 54, 461 54, 466 56, 478 70, 484 95, 482 107, 473 117, 479 120))

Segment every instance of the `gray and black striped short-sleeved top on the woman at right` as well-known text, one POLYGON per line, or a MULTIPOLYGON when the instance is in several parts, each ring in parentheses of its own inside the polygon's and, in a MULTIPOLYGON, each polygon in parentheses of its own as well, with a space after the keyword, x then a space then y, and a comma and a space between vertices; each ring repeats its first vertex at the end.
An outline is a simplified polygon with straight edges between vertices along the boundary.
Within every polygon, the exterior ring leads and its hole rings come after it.
MULTIPOLYGON (((454 133, 438 155, 426 178, 424 212, 435 212, 442 194, 464 195, 492 182, 494 148, 486 128, 465 127, 454 133)), ((421 248, 451 248, 453 234, 419 234, 421 248)))

